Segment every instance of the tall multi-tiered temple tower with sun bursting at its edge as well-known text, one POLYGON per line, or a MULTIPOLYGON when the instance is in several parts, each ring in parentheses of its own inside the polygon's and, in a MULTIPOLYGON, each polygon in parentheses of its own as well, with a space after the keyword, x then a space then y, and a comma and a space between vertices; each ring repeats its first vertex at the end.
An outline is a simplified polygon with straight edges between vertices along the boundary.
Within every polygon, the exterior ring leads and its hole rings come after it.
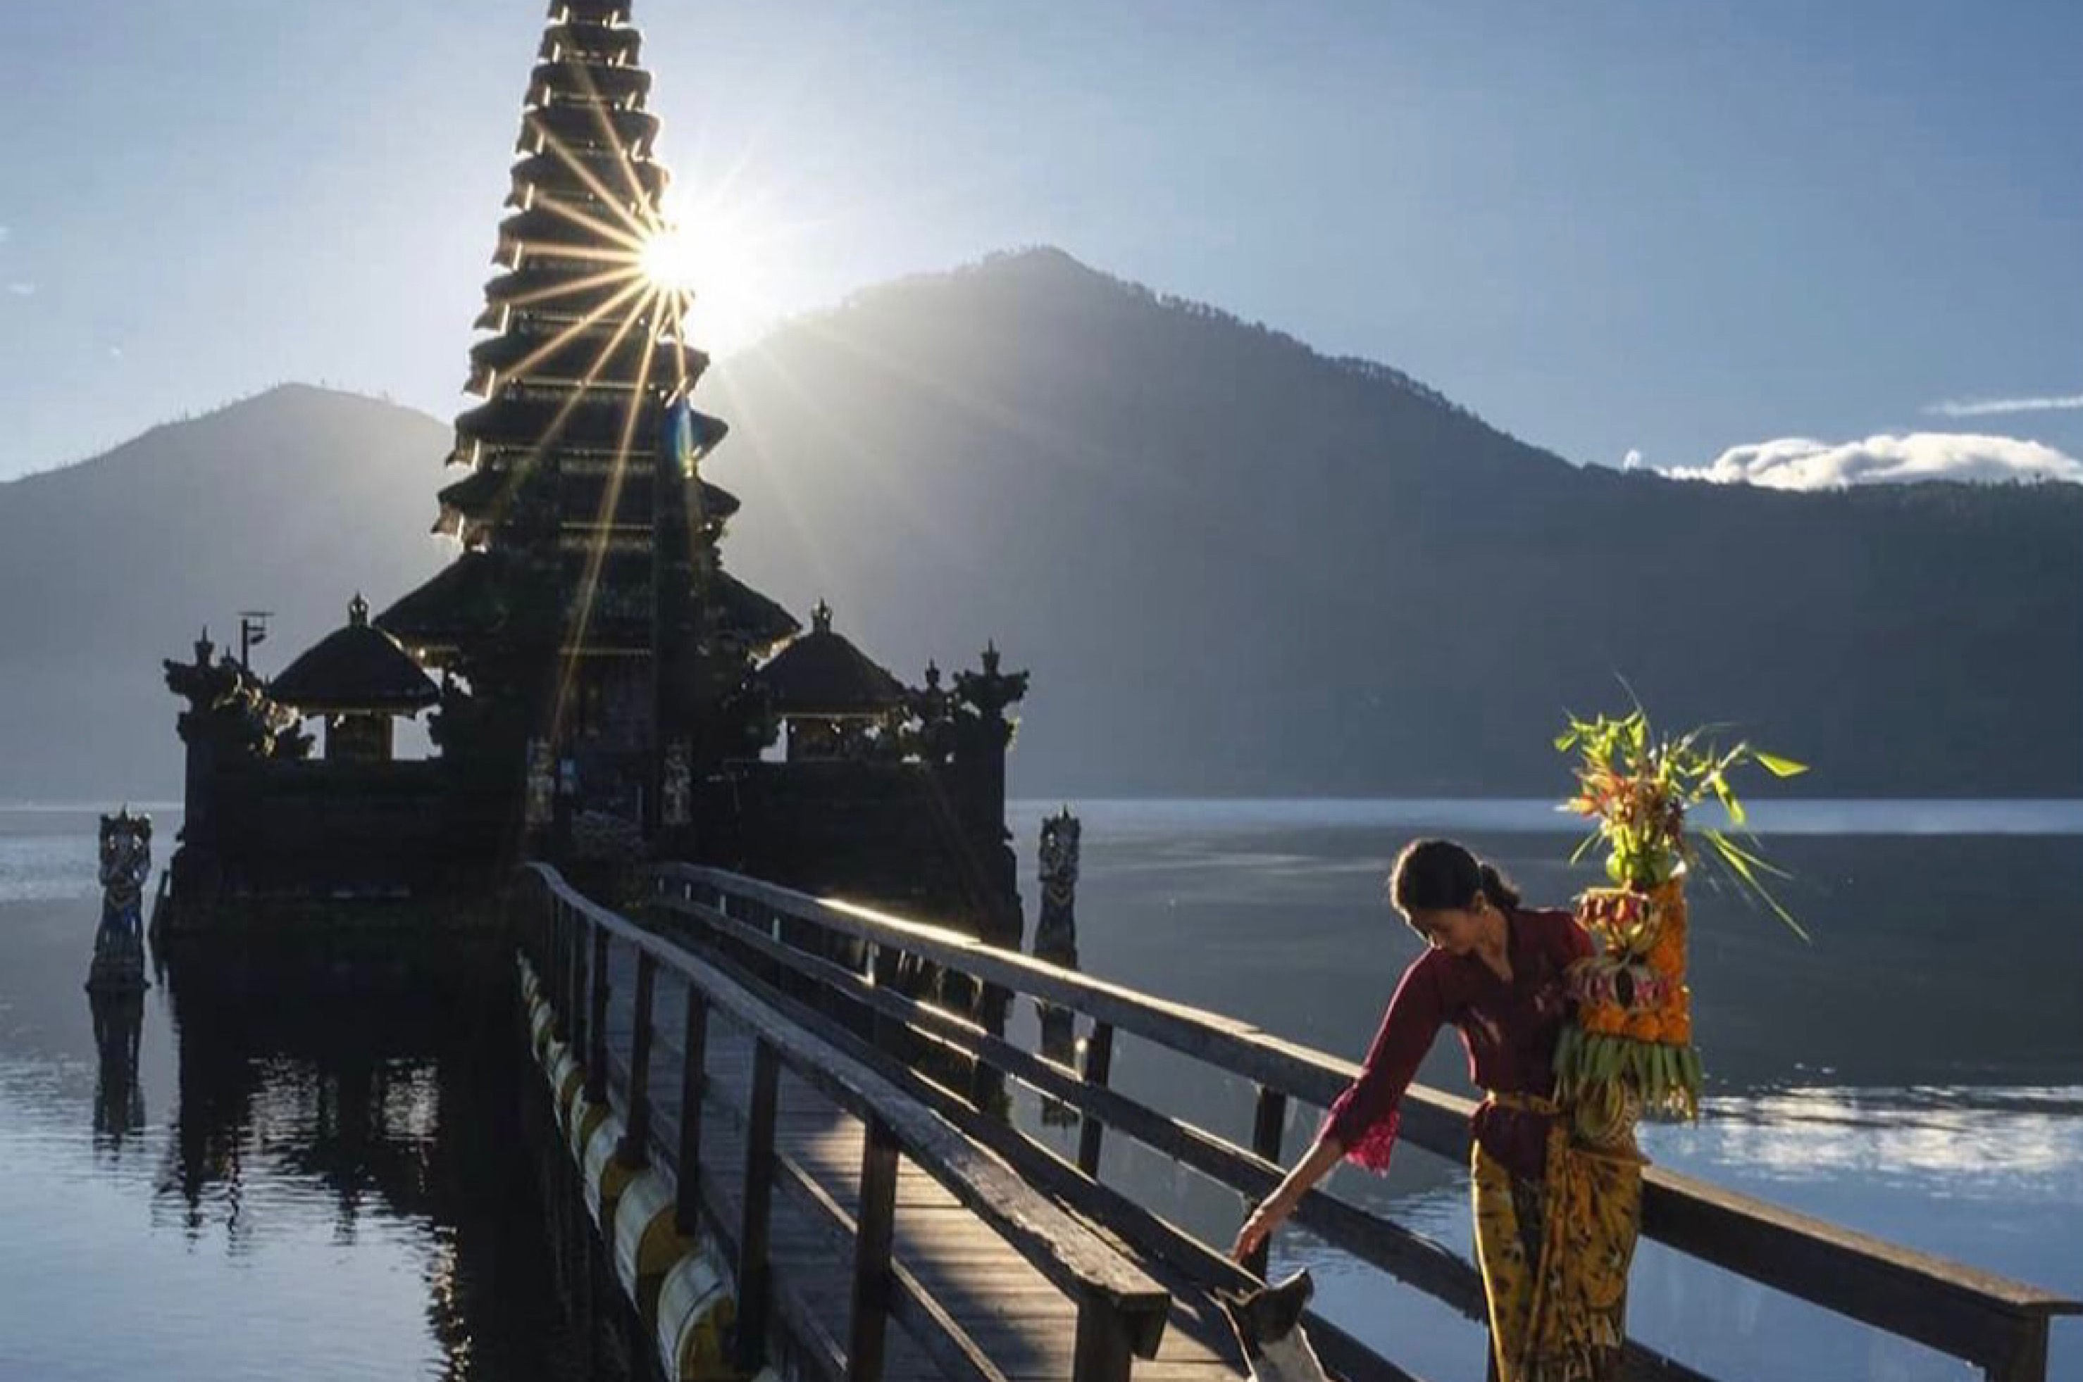
POLYGON ((548 758, 583 812, 656 826, 669 753, 700 772, 754 747, 756 706, 729 691, 798 624, 717 560, 737 500, 698 468, 727 429, 685 402, 708 360, 687 289, 658 277, 669 173, 639 44, 627 0, 550 6, 471 350, 485 402, 456 418, 467 475, 435 522, 465 549, 377 622, 467 685, 444 749, 548 758))

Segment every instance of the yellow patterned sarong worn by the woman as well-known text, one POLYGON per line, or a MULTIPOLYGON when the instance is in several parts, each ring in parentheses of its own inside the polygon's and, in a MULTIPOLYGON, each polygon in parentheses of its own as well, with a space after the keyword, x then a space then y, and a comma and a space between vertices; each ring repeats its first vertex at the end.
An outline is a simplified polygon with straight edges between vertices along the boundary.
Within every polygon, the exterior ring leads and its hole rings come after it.
MULTIPOLYGON (((1550 1099, 1491 1095, 1554 1114, 1550 1099)), ((1641 1161, 1548 1130, 1544 1182, 1521 1180, 1477 1145, 1475 1255, 1489 1297, 1498 1382, 1602 1382, 1627 1336, 1627 1268, 1641 1230, 1641 1161)))

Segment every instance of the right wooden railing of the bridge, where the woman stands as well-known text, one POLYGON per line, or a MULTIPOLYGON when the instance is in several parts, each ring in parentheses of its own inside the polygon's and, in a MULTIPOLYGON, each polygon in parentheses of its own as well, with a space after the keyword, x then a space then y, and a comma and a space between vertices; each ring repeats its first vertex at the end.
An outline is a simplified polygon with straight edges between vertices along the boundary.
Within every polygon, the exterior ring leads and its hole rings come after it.
MULTIPOLYGON (((1194 1240, 1100 1180, 1108 1130, 1131 1136, 1248 1199, 1271 1193, 1281 1176, 1281 1128, 1289 1101, 1329 1105, 1358 1074, 1352 1061, 1273 1036, 1235 1018, 1158 999, 1027 955, 987 947, 960 932, 887 916, 837 899, 817 899, 737 874, 664 866, 658 905, 694 922, 725 951, 756 957, 775 993, 804 982, 844 995, 877 1022, 904 1024, 946 1043, 1081 1114, 1075 1166, 1046 1145, 975 1116, 952 1091, 923 1091, 944 1116, 994 1143, 1029 1180, 1062 1195, 1129 1240, 1183 1268, 1204 1286, 1241 1284, 1241 1272, 1214 1247, 1194 1240), (806 930, 808 928, 808 930, 806 930), (802 939, 817 937, 812 945, 802 939), (794 941, 794 943, 792 943, 794 941), (877 972, 894 955, 967 974, 981 984, 1071 1007, 1091 1022, 1081 1072, 1025 1051, 962 1014, 889 991, 877 972), (787 976, 783 980, 783 976, 787 976), (773 980, 783 980, 775 984, 773 980), (1129 1032, 1256 1084, 1250 1147, 1173 1118, 1108 1089, 1114 1034, 1129 1032)), ((752 978, 748 974, 748 978, 752 978)), ((810 1018, 814 1020, 814 1018, 810 1018)), ((912 1086, 917 1080, 912 1082, 912 1086)), ((1402 1136, 1456 1163, 1469 1159, 1471 1101, 1427 1086, 1404 1099, 1402 1136)), ((1481 1278, 1460 1255, 1325 1193, 1308 1195, 1294 1222, 1333 1247, 1483 1320, 1481 1278)), ((1987 1272, 1858 1234, 1827 1220, 1648 1168, 1643 1234, 1698 1261, 1916 1340, 1962 1359, 1989 1382, 2043 1382, 2048 1332, 2056 1315, 2083 1303, 1987 1272)), ((1254 1263, 1264 1270, 1264 1259, 1254 1263)), ((1329 1322, 1312 1320, 1325 1361, 1348 1378, 1400 1378, 1329 1322)), ((1629 1376, 1702 1378, 1652 1349, 1629 1342, 1629 1376)))

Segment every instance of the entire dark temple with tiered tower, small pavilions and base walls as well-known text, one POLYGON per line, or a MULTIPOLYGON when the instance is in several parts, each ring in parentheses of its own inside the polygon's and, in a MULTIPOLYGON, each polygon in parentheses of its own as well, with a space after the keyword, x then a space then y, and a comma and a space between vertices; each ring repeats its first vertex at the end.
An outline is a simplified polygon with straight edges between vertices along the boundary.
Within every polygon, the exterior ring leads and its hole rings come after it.
POLYGON ((627 0, 550 6, 433 524, 458 556, 375 618, 356 595, 273 681, 208 635, 167 664, 187 818, 156 924, 454 916, 519 858, 675 858, 1019 943, 1027 674, 989 647, 906 687, 823 602, 804 633, 723 566, 737 500, 702 462, 729 427, 694 406, 698 287, 652 254, 673 227, 639 44, 627 0), (421 710, 435 753, 398 760, 421 710))

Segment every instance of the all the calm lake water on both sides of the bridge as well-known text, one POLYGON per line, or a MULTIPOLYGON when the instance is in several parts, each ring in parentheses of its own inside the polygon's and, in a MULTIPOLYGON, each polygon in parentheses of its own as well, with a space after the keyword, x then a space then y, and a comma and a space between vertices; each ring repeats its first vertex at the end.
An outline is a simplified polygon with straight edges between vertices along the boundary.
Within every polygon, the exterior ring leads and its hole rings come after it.
MULTIPOLYGON (((1014 828, 1033 889, 1050 803, 1014 828)), ((1585 880, 1546 803, 1081 803, 1085 968, 1358 1055, 1414 939, 1381 874, 1454 833, 1533 901, 1585 880)), ((158 858, 175 818, 158 812, 158 858)), ((1664 1166, 2083 1295, 2083 803, 1762 808, 1798 874, 1768 914, 1696 895, 1698 1034, 1712 1082, 1664 1166)), ((1033 916, 1029 895, 1029 918, 1033 916)), ((512 1155, 533 1086, 500 957, 377 955, 237 1001, 177 978, 129 1032, 79 982, 98 920, 94 816, 0 810, 0 1382, 127 1378, 571 1378, 571 1317, 539 1168, 512 1155), (371 1001, 360 989, 383 993, 371 1001), (371 1012, 381 1012, 381 1022, 371 1012)), ((1021 1014, 1021 1022, 1031 1022, 1021 1014)), ((1441 1041, 1425 1076, 1460 1086, 1441 1041)), ((1250 1091, 1125 1041, 1116 1082, 1241 1136, 1250 1091)), ((1029 1118, 1033 1109, 1027 1109, 1029 1118)), ((1298 1111, 1287 1155, 1314 1124, 1298 1111)), ((1042 1130, 1062 1136, 1060 1130, 1042 1130)), ((1216 1238, 1235 1197, 1108 1145, 1106 1174, 1216 1238)), ((1466 1249, 1458 1168, 1406 1149, 1335 1193, 1466 1249)), ((1306 1238, 1319 1303, 1433 1378, 1481 1378, 1481 1334, 1306 1238)), ((1971 1376, 1762 1286, 1637 1257, 1635 1330, 1725 1376, 1971 1376)), ((2056 1326, 2050 1376, 2083 1376, 2056 1326)))

